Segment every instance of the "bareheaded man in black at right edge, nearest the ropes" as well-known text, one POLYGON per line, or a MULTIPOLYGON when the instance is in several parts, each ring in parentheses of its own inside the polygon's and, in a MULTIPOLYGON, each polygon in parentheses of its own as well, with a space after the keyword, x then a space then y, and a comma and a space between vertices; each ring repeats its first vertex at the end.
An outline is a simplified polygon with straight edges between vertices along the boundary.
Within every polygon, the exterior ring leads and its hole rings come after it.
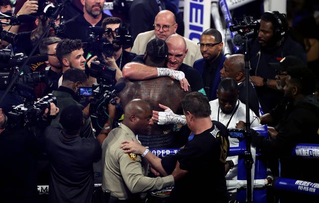
MULTIPOLYGON (((296 144, 319 144, 319 103, 314 95, 314 73, 302 64, 287 68, 284 98, 289 101, 285 112, 272 117, 279 118, 278 124, 268 129, 270 140, 252 131, 252 144, 261 149, 268 158, 279 158, 280 177, 318 183, 316 159, 292 156, 296 144)), ((281 203, 316 202, 318 197, 291 191, 278 192, 281 203)))

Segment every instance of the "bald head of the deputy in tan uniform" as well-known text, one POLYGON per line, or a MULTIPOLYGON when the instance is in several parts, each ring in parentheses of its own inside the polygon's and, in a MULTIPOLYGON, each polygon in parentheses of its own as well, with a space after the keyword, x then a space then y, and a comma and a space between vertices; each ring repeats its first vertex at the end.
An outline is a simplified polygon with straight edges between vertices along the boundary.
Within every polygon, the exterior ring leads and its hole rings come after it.
POLYGON ((124 108, 123 124, 135 134, 148 134, 153 123, 152 106, 142 99, 133 99, 124 108))

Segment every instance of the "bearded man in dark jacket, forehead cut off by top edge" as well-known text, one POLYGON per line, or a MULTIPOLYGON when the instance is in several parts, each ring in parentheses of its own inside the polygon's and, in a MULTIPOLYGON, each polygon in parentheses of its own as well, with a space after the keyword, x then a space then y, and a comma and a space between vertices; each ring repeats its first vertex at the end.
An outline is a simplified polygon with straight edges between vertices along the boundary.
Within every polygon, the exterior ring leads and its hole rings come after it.
POLYGON ((83 42, 89 39, 90 26, 102 26, 102 20, 110 15, 103 12, 105 0, 81 0, 83 4, 83 15, 65 23, 66 29, 61 37, 69 39, 81 39, 83 42))

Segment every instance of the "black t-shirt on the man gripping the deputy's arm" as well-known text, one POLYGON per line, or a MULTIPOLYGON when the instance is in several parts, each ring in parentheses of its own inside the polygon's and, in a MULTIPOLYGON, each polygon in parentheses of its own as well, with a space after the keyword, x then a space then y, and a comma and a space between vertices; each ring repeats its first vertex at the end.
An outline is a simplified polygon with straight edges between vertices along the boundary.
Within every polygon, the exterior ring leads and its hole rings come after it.
POLYGON ((176 161, 180 163, 180 169, 188 171, 175 182, 170 202, 205 202, 209 194, 213 197, 212 203, 228 203, 225 180, 228 137, 226 127, 213 121, 212 128, 195 135, 176 155, 162 158, 161 164, 167 173, 173 171, 176 161), (185 195, 189 191, 191 194, 185 195))

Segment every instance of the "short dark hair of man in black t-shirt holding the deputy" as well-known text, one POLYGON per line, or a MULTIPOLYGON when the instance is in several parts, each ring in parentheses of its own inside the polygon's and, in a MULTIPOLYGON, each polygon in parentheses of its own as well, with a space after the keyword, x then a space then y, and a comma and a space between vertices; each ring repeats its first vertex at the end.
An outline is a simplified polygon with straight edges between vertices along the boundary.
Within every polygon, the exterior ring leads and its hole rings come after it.
POLYGON ((208 98, 200 92, 186 94, 181 100, 181 107, 184 114, 189 112, 195 118, 209 117, 211 113, 208 98))

